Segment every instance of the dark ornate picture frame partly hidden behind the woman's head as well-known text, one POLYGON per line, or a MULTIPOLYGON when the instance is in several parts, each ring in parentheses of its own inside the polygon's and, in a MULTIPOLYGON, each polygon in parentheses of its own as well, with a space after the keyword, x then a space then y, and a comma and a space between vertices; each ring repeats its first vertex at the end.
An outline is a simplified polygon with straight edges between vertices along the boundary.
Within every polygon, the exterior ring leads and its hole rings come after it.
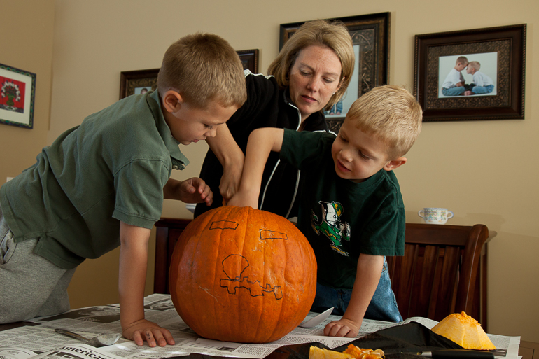
MULTIPOLYGON (((325 120, 332 131, 338 132, 344 116, 353 101, 372 87, 387 85, 389 78, 390 13, 376 13, 326 19, 340 21, 348 29, 353 41, 356 64, 350 85, 342 100, 332 110, 324 111, 325 120)), ((304 22, 281 24, 279 50, 304 22)))

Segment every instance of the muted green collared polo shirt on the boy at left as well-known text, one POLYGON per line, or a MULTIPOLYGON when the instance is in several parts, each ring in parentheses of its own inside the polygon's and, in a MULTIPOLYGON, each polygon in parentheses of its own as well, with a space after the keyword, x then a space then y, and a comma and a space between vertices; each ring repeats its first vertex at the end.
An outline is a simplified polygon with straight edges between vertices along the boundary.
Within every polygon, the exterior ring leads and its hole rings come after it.
POLYGON ((0 188, 15 241, 70 269, 120 245, 120 221, 159 220, 172 169, 189 163, 163 117, 158 92, 122 99, 43 148, 34 166, 0 188))

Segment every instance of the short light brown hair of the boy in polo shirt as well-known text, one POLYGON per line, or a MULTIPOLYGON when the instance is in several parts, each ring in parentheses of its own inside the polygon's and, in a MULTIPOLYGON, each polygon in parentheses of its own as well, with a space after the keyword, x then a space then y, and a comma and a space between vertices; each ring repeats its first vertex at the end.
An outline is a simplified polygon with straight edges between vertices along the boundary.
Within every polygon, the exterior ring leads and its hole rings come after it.
POLYGON ((160 95, 169 90, 197 108, 207 108, 209 101, 240 107, 247 99, 237 52, 214 34, 191 34, 170 45, 158 74, 160 95))

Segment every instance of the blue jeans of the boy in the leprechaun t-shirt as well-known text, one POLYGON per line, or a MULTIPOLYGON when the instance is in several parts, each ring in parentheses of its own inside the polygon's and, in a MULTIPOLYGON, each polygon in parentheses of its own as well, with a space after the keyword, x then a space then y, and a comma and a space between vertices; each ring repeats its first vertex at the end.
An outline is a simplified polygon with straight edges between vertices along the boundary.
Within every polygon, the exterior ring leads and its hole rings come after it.
MULTIPOLYGON (((331 314, 342 316, 348 307, 351 296, 351 289, 335 289, 316 283, 316 297, 314 297, 311 311, 322 313, 328 308, 335 307, 331 314)), ((391 279, 389 279, 385 257, 380 281, 378 282, 374 295, 372 295, 369 307, 365 312, 365 319, 388 322, 402 321, 402 316, 398 311, 395 293, 393 293, 393 290, 391 289, 391 279)))

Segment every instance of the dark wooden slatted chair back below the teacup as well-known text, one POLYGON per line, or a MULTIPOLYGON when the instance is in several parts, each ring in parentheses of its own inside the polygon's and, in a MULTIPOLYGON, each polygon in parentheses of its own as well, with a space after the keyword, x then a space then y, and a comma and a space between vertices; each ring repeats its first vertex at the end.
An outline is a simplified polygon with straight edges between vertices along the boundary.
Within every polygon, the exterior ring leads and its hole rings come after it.
POLYGON ((402 318, 441 321, 465 311, 486 328, 486 272, 481 288, 479 262, 486 271, 487 238, 485 225, 407 223, 405 255, 387 258, 402 318))

